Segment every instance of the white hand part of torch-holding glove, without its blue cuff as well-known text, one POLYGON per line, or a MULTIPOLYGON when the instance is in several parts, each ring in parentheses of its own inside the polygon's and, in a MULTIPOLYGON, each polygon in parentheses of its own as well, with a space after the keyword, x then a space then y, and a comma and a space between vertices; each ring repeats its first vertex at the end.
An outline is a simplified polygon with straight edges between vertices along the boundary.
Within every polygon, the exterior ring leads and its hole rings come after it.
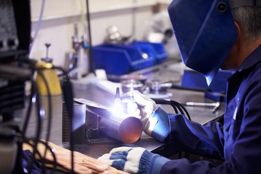
POLYGON ((153 113, 158 109, 155 101, 140 93, 139 91, 127 92, 124 96, 132 96, 136 100, 136 103, 127 103, 127 112, 131 116, 139 117, 143 125, 143 131, 151 136, 151 133, 158 122, 158 119, 151 117, 153 113), (137 106, 139 105, 139 107, 137 106))

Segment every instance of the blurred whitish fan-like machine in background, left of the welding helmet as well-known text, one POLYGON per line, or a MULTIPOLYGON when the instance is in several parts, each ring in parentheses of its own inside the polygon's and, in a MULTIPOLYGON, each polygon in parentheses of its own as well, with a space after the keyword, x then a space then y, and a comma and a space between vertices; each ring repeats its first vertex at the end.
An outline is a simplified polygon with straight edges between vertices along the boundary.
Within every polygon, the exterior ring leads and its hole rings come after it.
POLYGON ((167 11, 155 14, 144 25, 143 39, 152 43, 164 43, 168 58, 180 60, 179 47, 167 11))

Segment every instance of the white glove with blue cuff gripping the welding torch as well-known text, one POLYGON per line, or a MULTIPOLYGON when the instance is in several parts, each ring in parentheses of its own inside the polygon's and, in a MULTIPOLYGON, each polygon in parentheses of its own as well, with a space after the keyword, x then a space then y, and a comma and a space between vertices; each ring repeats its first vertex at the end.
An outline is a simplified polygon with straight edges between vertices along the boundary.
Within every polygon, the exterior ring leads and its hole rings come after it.
POLYGON ((155 101, 139 91, 127 92, 124 96, 134 97, 136 103, 128 103, 127 112, 131 116, 140 115, 143 131, 156 140, 166 143, 170 133, 168 114, 158 107, 155 101))

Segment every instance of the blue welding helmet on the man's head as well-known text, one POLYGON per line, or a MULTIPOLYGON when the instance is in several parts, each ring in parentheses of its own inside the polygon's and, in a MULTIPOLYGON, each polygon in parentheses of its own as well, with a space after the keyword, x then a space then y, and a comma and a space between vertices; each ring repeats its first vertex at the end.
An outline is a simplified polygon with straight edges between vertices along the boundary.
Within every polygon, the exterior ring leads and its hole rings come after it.
POLYGON ((173 0, 169 16, 183 63, 210 85, 237 39, 231 9, 261 0, 173 0))

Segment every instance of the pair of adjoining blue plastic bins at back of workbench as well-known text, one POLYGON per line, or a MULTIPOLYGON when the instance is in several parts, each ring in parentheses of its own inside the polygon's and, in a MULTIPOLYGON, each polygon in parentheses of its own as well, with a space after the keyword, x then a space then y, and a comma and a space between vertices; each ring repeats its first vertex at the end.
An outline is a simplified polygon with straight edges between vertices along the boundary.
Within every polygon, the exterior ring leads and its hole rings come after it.
POLYGON ((93 58, 96 69, 104 69, 110 75, 124 75, 162 63, 167 52, 163 43, 101 44, 93 47, 93 58))

